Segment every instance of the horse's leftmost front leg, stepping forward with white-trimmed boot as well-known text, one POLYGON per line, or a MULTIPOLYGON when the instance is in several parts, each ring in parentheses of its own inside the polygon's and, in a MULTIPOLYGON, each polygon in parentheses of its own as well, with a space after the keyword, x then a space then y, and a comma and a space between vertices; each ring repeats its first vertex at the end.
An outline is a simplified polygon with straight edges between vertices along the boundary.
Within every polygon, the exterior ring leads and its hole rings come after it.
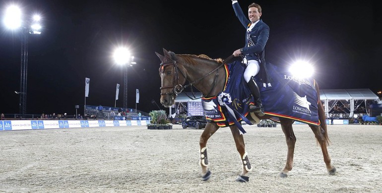
POLYGON ((218 129, 219 129, 219 126, 216 123, 208 122, 204 128, 203 133, 200 136, 199 165, 201 167, 201 176, 203 181, 207 181, 211 177, 211 172, 208 170, 208 158, 207 158, 207 146, 206 146, 207 141, 218 129))

